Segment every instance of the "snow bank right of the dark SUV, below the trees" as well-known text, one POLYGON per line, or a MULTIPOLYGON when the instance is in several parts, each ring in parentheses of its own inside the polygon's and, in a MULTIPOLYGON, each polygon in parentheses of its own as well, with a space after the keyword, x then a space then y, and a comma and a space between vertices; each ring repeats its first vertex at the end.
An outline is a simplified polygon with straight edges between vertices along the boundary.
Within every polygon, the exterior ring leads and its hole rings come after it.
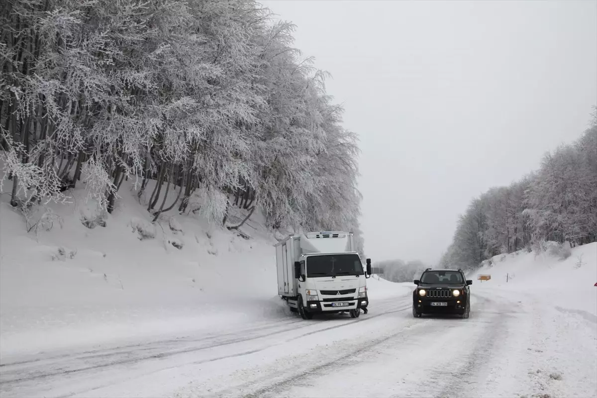
POLYGON ((497 255, 469 277, 476 291, 523 292, 597 323, 597 243, 566 249, 547 242, 541 252, 497 255), (479 274, 491 279, 477 280, 479 274))

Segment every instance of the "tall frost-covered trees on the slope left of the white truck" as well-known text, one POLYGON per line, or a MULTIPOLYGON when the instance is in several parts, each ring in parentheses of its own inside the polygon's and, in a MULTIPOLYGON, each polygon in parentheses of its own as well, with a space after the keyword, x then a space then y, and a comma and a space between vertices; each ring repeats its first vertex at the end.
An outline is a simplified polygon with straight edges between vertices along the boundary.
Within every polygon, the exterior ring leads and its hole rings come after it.
POLYGON ((0 2, 11 204, 86 184, 112 212, 125 178, 153 179, 152 214, 202 192, 220 223, 236 205, 360 235, 357 137, 293 29, 250 0, 0 2))

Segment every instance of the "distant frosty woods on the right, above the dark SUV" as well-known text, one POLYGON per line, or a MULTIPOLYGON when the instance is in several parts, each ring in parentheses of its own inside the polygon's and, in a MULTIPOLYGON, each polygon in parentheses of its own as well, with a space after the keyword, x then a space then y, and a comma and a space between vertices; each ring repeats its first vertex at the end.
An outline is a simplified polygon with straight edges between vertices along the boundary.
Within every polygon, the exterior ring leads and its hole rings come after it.
POLYGON ((494 255, 541 242, 597 240, 597 107, 574 143, 543 157, 541 167, 470 202, 440 265, 473 269, 494 255))

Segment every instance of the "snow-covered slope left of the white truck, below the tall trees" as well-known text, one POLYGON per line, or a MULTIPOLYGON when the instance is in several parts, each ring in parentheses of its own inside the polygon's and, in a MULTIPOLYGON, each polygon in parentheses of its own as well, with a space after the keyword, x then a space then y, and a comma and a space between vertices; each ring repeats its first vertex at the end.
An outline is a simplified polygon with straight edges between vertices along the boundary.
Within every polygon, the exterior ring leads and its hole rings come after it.
MULTIPOLYGON (((150 182, 146 192, 152 188, 150 182)), ((277 296, 276 240, 258 212, 240 235, 208 223, 200 212, 179 215, 176 209, 152 225, 133 181, 120 195, 113 213, 104 215, 105 227, 90 229, 82 221, 97 216, 95 202, 76 189, 71 203, 52 203, 30 217, 30 224, 45 220, 37 233, 35 227, 27 233, 23 214, 2 195, 3 359, 290 316, 277 296)), ((244 216, 232 212, 229 223, 244 216)), ((380 285, 373 296, 388 289, 383 282, 371 285, 380 285)))

